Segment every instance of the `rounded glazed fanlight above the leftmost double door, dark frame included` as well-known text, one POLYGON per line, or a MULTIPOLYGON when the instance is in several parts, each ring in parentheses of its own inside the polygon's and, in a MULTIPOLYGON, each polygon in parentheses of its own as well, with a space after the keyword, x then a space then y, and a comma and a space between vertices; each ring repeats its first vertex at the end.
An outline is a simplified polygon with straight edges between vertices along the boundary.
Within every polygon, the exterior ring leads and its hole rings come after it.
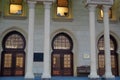
POLYGON ((5 36, 3 39, 3 48, 4 49, 24 49, 25 48, 25 39, 17 31, 13 31, 5 36))

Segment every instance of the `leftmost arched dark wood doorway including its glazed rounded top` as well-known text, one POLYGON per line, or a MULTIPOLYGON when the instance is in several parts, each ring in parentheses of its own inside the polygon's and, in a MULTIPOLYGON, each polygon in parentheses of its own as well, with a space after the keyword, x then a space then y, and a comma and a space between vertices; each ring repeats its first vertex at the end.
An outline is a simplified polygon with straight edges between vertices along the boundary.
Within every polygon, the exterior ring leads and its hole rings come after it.
POLYGON ((18 31, 9 32, 2 40, 1 75, 23 76, 25 73, 24 36, 18 31))

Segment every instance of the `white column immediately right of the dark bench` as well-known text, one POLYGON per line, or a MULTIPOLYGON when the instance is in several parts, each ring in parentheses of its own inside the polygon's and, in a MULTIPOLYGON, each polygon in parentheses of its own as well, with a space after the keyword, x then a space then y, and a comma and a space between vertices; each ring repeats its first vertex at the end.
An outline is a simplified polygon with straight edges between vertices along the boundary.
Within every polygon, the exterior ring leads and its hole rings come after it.
POLYGON ((95 38, 95 10, 97 5, 88 5, 89 8, 89 26, 90 26, 90 78, 99 78, 97 75, 97 53, 95 38))

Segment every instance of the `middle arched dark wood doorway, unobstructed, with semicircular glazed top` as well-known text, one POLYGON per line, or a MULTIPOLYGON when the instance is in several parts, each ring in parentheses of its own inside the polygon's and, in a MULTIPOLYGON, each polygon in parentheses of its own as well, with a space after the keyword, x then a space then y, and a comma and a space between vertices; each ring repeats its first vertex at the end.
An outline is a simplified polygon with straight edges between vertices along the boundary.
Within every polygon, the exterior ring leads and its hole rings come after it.
POLYGON ((57 34, 52 40, 51 75, 73 76, 73 42, 66 33, 57 34))

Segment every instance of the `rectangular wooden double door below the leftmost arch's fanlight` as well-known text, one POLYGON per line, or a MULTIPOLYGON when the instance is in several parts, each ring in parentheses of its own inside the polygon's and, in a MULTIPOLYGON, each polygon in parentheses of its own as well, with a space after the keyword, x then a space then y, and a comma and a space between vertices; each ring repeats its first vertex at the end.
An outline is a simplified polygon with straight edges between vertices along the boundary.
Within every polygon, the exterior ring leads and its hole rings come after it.
POLYGON ((24 52, 3 52, 2 54, 2 76, 23 76, 25 67, 24 52))

